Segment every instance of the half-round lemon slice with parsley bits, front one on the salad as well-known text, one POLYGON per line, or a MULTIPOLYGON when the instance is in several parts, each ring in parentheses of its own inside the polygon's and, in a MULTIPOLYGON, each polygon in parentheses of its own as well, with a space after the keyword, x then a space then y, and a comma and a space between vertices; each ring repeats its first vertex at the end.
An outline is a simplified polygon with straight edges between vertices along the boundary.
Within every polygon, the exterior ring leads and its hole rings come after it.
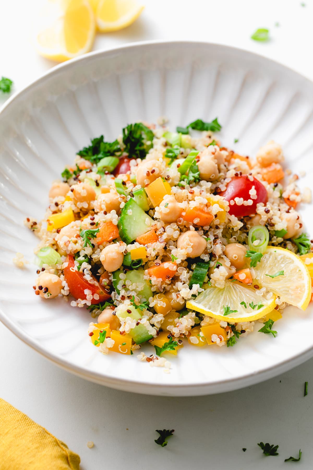
POLYGON ((236 323, 262 318, 275 308, 275 298, 268 292, 260 295, 260 291, 240 282, 226 281, 223 289, 210 286, 189 300, 186 307, 217 320, 236 323))

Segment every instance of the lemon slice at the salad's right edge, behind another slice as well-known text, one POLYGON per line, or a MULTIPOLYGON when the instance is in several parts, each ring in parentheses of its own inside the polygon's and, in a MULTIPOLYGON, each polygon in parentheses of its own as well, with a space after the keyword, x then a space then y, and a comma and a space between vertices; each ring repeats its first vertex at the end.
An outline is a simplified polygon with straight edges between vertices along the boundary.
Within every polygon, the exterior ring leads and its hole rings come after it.
POLYGON ((311 294, 311 277, 303 258, 292 251, 276 246, 267 247, 254 276, 262 287, 279 296, 283 302, 305 310, 311 294), (283 275, 276 275, 283 271, 283 275))

